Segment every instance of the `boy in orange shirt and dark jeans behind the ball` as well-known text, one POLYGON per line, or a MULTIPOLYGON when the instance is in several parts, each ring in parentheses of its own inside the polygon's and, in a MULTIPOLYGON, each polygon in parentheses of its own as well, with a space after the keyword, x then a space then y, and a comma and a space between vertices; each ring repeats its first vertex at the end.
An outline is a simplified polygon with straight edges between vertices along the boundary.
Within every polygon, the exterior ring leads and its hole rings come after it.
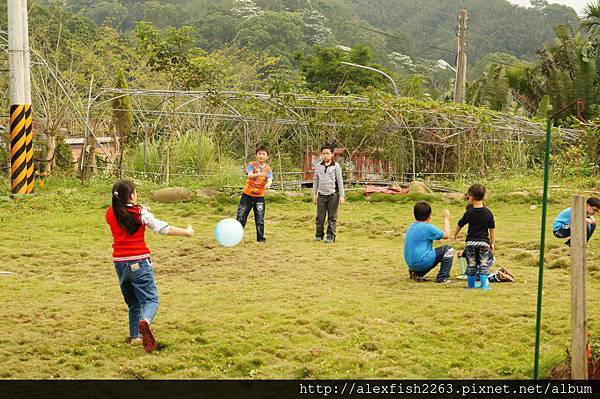
POLYGON ((256 162, 250 162, 246 168, 248 180, 240 198, 237 221, 246 227, 250 209, 254 210, 254 223, 256 224, 256 241, 265 242, 265 192, 273 183, 273 171, 267 165, 269 150, 259 144, 256 147, 256 162))

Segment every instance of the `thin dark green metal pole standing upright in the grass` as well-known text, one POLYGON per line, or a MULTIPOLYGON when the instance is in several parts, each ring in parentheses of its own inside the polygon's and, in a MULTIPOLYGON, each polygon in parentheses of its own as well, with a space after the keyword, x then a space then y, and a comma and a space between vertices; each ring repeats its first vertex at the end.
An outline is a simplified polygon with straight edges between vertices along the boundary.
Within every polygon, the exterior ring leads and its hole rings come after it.
POLYGON ((540 360, 540 330, 542 323, 542 286, 544 280, 544 247, 546 244, 546 213, 548 209, 548 171, 550 169, 550 140, 552 119, 546 122, 546 154, 544 157, 544 197, 542 202, 542 233, 540 235, 540 265, 538 269, 538 303, 535 320, 535 355, 533 360, 533 379, 538 379, 540 360))

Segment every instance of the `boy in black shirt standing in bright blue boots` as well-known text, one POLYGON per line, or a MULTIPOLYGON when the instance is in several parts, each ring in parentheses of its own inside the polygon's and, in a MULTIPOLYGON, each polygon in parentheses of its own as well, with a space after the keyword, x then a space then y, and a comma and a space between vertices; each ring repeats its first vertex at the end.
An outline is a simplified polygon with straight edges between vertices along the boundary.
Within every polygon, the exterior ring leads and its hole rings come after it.
POLYGON ((481 281, 481 288, 490 290, 488 282, 488 259, 490 252, 494 251, 494 240, 496 239, 496 223, 492 212, 483 205, 485 198, 485 187, 481 184, 473 184, 467 192, 469 204, 472 208, 467 209, 463 217, 458 221, 454 231, 454 238, 458 237, 460 230, 469 225, 467 231, 467 243, 465 255, 467 258, 467 287, 475 288, 477 274, 481 281))

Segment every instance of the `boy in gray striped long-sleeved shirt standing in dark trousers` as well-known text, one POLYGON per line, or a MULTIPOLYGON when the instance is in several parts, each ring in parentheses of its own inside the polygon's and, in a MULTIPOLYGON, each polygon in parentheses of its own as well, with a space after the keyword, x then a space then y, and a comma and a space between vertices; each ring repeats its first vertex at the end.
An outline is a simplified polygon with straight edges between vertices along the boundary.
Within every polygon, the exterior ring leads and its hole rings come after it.
POLYGON ((315 165, 313 177, 313 202, 317 204, 316 240, 325 236, 324 223, 327 216, 326 243, 335 241, 338 205, 346 201, 342 168, 333 160, 333 146, 321 147, 321 162, 315 165))

